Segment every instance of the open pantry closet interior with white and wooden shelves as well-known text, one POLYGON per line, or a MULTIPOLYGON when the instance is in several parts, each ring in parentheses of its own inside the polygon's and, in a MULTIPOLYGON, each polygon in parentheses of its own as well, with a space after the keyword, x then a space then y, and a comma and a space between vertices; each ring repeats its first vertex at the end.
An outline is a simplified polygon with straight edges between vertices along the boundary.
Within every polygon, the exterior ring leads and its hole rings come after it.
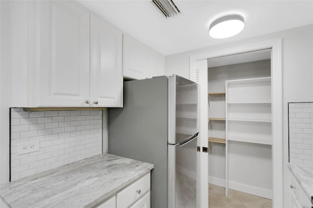
POLYGON ((270 49, 208 59, 209 183, 272 199, 270 49))

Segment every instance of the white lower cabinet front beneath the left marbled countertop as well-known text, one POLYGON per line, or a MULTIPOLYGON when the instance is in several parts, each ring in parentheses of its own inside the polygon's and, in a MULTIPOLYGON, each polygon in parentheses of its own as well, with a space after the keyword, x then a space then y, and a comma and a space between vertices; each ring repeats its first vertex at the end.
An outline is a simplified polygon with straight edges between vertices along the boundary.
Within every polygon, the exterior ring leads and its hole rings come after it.
POLYGON ((149 172, 96 208, 150 208, 150 187, 149 172))

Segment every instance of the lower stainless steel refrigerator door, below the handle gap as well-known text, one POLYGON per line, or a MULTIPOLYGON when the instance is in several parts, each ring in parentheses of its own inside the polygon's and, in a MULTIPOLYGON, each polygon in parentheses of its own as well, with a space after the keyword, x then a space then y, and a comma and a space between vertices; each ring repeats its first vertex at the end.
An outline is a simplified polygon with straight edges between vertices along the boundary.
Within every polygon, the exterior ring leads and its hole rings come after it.
POLYGON ((169 145, 168 157, 168 208, 195 208, 197 137, 183 145, 169 145))

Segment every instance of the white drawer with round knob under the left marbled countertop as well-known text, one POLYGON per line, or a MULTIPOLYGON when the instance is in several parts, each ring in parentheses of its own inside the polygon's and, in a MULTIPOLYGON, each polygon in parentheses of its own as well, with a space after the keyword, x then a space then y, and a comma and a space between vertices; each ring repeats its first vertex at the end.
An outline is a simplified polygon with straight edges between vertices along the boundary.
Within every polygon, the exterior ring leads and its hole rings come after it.
POLYGON ((116 207, 129 207, 149 190, 150 172, 116 194, 116 207))

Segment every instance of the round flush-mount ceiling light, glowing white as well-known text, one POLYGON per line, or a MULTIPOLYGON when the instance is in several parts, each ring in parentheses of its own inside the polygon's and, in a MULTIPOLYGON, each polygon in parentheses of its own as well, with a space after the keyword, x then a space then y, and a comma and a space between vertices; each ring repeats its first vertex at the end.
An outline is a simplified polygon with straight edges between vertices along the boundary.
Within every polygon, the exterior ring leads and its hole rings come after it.
POLYGON ((226 15, 213 21, 209 26, 212 38, 222 39, 240 33, 245 26, 244 17, 241 15, 226 15))

